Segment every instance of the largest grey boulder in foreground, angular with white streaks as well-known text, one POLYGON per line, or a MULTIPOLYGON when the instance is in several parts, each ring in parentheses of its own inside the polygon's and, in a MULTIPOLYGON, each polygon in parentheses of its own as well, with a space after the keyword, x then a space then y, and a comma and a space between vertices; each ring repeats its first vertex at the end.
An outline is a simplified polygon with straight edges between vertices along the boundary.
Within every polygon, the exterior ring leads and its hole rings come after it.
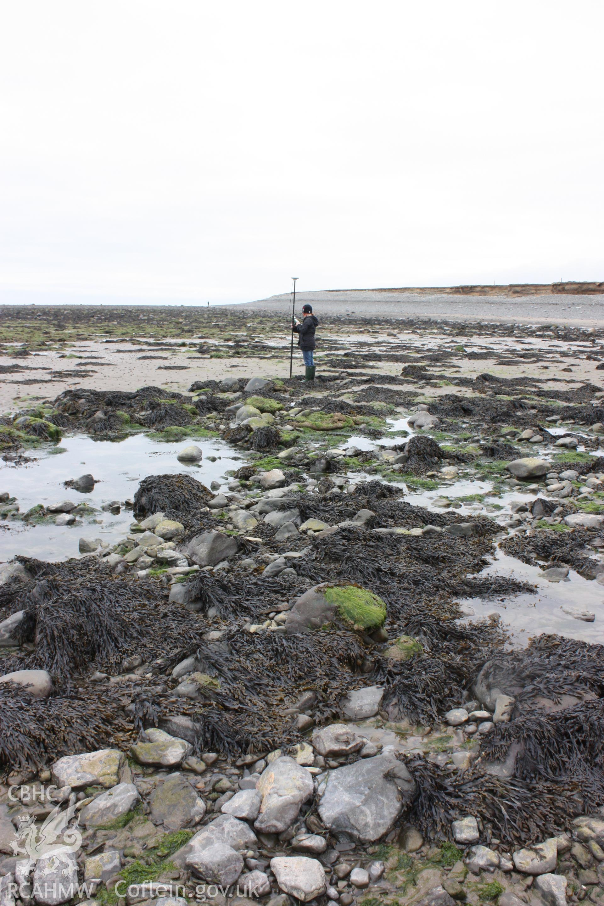
POLYGON ((397 758, 364 758, 321 780, 319 814, 332 834, 372 843, 388 833, 414 792, 415 783, 397 758))

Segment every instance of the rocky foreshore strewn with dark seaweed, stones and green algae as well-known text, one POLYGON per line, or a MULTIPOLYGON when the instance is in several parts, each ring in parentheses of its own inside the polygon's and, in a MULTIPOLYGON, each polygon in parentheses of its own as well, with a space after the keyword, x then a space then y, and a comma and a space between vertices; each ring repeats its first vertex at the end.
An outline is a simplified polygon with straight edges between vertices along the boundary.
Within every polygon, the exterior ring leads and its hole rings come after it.
POLYGON ((40 424, 190 427, 244 461, 108 497, 132 511, 113 544, 95 476, 30 514, 6 488, 9 529, 72 525, 80 556, 0 566, 0 906, 604 902, 602 646, 547 625, 511 645, 463 604, 534 592, 483 572, 498 550, 602 583, 601 391, 552 413, 484 374, 401 406, 383 379, 369 405, 328 377, 68 390, 6 426, 15 463, 40 424), (503 505, 459 513, 447 488, 487 478, 503 505))

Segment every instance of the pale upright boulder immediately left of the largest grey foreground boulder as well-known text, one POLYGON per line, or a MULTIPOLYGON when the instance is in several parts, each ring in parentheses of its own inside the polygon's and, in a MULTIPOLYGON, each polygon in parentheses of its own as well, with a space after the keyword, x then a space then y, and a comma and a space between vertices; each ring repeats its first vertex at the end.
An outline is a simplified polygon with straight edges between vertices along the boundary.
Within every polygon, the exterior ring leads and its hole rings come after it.
POLYGON ((263 834, 281 834, 296 820, 314 786, 312 774, 305 767, 283 756, 264 768, 256 789, 262 802, 254 827, 263 834))

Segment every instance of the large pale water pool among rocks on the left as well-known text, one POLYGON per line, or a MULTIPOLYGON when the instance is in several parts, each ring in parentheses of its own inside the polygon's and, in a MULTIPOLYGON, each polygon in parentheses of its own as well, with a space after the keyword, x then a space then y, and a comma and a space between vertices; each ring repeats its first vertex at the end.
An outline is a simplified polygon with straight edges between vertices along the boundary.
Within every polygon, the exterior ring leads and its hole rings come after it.
MULTIPOLYGON (((212 481, 223 481, 225 471, 238 468, 241 457, 233 448, 219 439, 183 439, 175 443, 151 440, 136 434, 120 440, 93 440, 87 435, 63 438, 58 452, 48 446, 30 453, 36 458, 27 466, 14 467, 0 463, 0 491, 16 497, 20 512, 25 513, 36 504, 89 503, 101 510, 101 505, 111 500, 123 502, 132 498, 139 481, 149 475, 166 475, 178 472, 192 475, 207 487, 212 481), (197 444, 204 452, 199 465, 188 465, 177 460, 178 450, 187 444, 197 444), (207 456, 221 457, 210 462, 207 456), (91 473, 99 479, 90 494, 81 494, 70 487, 62 487, 67 478, 77 478, 91 473)), ((132 522, 132 510, 122 509, 119 516, 99 512, 95 523, 78 519, 75 525, 27 525, 18 521, 0 522, 0 561, 10 560, 15 554, 27 554, 41 560, 65 560, 78 555, 81 537, 101 538, 115 544, 127 534, 132 522), (6 527, 8 526, 8 527, 6 527)))

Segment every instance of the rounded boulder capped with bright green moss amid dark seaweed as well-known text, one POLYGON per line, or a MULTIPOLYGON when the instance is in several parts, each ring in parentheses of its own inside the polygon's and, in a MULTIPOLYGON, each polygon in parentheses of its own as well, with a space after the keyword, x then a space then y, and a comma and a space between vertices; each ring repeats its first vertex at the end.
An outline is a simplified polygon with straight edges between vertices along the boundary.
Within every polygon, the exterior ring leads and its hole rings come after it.
POLYGON ((360 585, 315 585, 301 595, 287 615, 287 632, 308 632, 335 623, 373 632, 386 620, 386 604, 360 585))

